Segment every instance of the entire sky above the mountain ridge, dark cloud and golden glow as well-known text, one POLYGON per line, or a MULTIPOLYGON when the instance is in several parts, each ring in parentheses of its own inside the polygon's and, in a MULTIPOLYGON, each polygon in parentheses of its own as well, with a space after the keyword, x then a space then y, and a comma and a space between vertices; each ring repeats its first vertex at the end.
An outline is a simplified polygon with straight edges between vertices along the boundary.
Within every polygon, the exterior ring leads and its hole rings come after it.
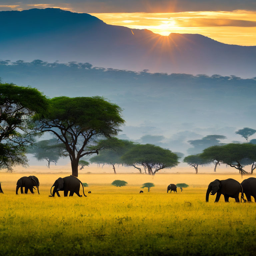
POLYGON ((256 45, 255 0, 0 0, 0 11, 55 7, 84 12, 107 24, 168 36, 193 33, 238 45, 256 45))

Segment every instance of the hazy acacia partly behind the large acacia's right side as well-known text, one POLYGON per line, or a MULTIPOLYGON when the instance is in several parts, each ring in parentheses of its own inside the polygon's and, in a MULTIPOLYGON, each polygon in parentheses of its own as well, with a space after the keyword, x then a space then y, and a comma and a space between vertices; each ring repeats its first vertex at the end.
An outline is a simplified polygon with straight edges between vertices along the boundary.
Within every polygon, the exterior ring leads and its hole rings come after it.
MULTIPOLYGON (((90 162, 97 164, 108 164, 111 165, 114 173, 116 174, 115 165, 124 164, 121 156, 125 154, 134 146, 133 141, 120 140, 118 138, 108 138, 98 142, 97 147, 102 149, 99 155, 94 156, 90 159, 90 162)), ((138 169, 141 173, 141 168, 132 164, 134 168, 138 169)))

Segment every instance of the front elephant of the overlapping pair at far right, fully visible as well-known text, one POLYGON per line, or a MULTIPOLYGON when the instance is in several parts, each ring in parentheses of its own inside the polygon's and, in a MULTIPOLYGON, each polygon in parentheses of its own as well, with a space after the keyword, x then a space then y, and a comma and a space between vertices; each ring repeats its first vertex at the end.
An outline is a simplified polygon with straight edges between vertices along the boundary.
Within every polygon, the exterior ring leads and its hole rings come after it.
POLYGON ((241 192, 241 202, 242 199, 244 199, 244 194, 243 194, 243 188, 241 184, 234 180, 234 179, 226 179, 226 180, 215 180, 212 181, 207 189, 206 192, 206 199, 205 201, 209 201, 209 194, 211 192, 211 195, 216 195, 215 202, 218 202, 220 199, 221 194, 224 195, 225 202, 228 202, 229 197, 235 198, 235 201, 239 203, 239 193, 241 192))

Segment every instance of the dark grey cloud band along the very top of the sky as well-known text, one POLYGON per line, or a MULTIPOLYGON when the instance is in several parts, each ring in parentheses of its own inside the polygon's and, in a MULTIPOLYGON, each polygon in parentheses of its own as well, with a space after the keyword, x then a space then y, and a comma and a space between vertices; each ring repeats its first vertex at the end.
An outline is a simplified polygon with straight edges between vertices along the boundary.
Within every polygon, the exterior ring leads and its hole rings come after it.
MULTIPOLYGON (((71 8, 76 12, 182 12, 182 11, 232 11, 232 10, 256 10, 254 0, 55 0, 40 2, 23 0, 20 2, 0 0, 0 5, 19 5, 18 8, 30 9, 61 7, 71 8), (30 6, 27 6, 30 5, 30 6), (43 6, 44 5, 44 6, 43 6)), ((8 7, 0 7, 2 10, 8 7)), ((14 7, 12 7, 14 8, 14 7)))

